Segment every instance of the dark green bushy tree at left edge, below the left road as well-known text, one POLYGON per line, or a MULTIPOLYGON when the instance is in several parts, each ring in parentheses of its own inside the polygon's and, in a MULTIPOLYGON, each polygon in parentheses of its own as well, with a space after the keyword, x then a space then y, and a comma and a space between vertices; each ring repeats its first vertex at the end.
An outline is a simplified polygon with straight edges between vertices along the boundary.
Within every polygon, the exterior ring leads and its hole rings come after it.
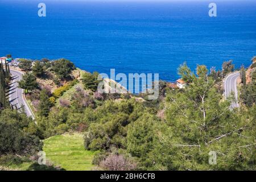
POLYGON ((5 109, 0 114, 0 156, 6 154, 35 155, 42 150, 42 142, 35 135, 26 132, 33 123, 26 114, 5 109))

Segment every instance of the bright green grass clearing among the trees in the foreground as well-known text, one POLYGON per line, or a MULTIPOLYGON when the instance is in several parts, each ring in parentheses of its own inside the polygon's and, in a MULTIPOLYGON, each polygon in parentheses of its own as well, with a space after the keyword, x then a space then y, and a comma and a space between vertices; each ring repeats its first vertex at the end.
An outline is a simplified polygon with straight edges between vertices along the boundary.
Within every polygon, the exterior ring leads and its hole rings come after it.
POLYGON ((86 151, 83 143, 83 135, 79 133, 57 135, 44 140, 43 150, 54 166, 68 171, 92 170, 94 152, 86 151))

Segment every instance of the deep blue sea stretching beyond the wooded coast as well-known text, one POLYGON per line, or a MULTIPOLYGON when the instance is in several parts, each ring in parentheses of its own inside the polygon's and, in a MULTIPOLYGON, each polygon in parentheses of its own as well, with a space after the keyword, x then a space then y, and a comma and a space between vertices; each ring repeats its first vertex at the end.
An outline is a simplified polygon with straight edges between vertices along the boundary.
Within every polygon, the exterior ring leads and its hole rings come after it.
POLYGON ((159 73, 256 55, 256 1, 0 1, 0 56, 65 57, 89 72, 159 73), (46 3, 46 17, 38 3, 46 3))

